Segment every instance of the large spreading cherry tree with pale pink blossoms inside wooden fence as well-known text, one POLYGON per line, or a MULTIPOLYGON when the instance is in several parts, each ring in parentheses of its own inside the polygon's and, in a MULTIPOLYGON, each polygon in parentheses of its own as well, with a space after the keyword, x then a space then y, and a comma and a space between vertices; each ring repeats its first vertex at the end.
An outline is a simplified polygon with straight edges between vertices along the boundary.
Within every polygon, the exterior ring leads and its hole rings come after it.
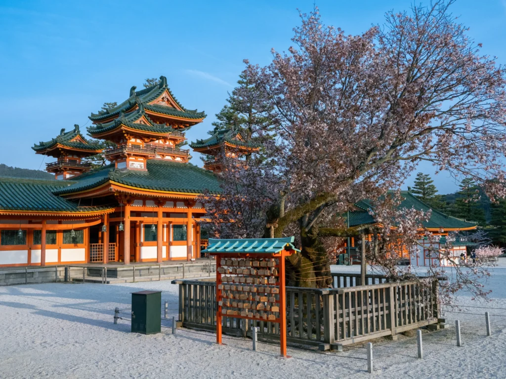
POLYGON ((394 275, 394 246, 412 249, 427 215, 399 213, 398 197, 386 195, 421 161, 504 197, 506 71, 480 53, 452 3, 387 13, 361 35, 325 26, 315 8, 301 14, 286 53, 273 50, 266 67, 246 60, 242 75, 256 90, 244 97, 276 138, 247 169, 229 165, 223 193, 206 197, 217 232, 295 234, 302 252, 289 258, 291 283, 326 287, 332 238, 372 233, 368 258, 394 275), (347 228, 341 215, 363 199, 382 199, 382 222, 347 228))

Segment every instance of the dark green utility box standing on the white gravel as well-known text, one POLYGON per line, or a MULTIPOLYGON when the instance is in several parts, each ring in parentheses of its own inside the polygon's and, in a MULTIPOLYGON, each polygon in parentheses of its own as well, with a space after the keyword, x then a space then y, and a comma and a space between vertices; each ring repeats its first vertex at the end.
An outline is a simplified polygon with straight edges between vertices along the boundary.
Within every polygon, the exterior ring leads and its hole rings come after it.
POLYGON ((161 332, 161 292, 132 293, 132 333, 156 334, 161 332))

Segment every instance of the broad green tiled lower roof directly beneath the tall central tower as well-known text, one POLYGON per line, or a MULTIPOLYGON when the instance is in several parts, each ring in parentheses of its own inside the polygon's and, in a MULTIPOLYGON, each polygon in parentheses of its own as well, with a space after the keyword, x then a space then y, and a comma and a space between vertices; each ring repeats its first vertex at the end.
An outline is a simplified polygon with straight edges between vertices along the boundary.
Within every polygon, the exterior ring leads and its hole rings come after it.
POLYGON ((69 194, 94 188, 109 180, 137 188, 155 191, 200 194, 208 190, 212 194, 221 192, 218 178, 208 170, 189 163, 167 162, 158 159, 147 161, 148 171, 113 170, 113 165, 87 172, 75 178, 74 183, 55 191, 69 194))

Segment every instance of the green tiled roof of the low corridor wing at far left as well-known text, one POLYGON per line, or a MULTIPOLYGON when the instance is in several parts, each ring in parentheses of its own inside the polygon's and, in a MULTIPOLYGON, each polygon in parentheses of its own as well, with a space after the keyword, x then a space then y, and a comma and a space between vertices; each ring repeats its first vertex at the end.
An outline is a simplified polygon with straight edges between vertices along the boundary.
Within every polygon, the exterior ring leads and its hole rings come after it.
POLYGON ((54 195, 72 181, 0 178, 0 209, 24 211, 89 212, 108 207, 77 207, 76 203, 54 195))

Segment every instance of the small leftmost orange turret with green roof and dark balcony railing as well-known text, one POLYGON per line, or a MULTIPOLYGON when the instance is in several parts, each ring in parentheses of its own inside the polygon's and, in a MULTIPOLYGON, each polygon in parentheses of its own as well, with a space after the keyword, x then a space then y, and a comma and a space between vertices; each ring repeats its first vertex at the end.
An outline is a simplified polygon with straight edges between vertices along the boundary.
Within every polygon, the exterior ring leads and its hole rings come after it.
POLYGON ((70 179, 91 170, 90 163, 81 162, 82 158, 90 157, 102 152, 99 146, 90 144, 79 131, 79 125, 60 134, 48 142, 34 144, 32 149, 36 154, 48 155, 57 158, 53 163, 46 164, 46 171, 55 174, 56 179, 70 179))

